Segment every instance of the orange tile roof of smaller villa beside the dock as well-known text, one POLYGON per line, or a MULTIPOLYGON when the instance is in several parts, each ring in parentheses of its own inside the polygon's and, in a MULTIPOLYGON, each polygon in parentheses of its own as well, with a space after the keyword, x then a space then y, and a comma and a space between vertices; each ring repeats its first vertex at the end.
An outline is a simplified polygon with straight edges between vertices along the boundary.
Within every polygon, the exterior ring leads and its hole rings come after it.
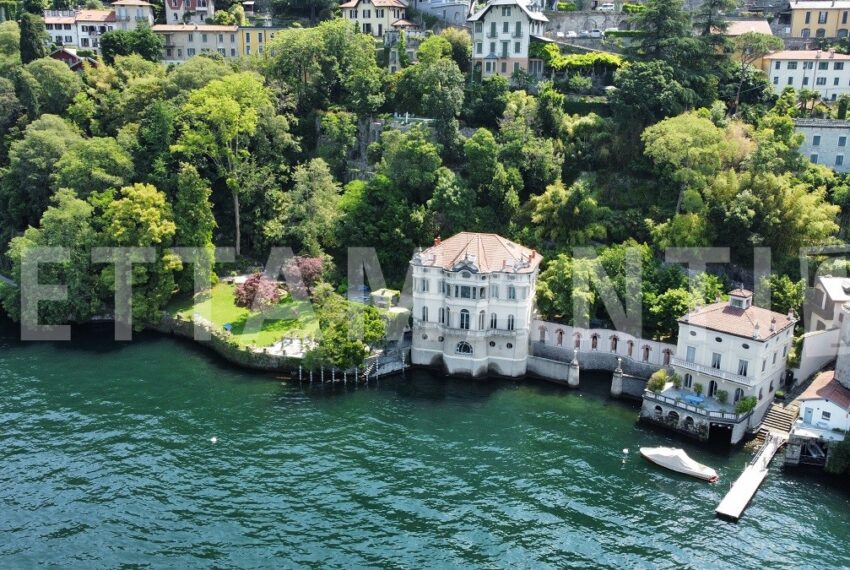
POLYGON ((692 311, 679 319, 679 322, 746 338, 753 338, 753 331, 758 325, 757 340, 768 340, 794 324, 788 315, 755 306, 739 309, 728 301, 719 301, 692 311), (773 332, 770 330, 771 325, 773 332))

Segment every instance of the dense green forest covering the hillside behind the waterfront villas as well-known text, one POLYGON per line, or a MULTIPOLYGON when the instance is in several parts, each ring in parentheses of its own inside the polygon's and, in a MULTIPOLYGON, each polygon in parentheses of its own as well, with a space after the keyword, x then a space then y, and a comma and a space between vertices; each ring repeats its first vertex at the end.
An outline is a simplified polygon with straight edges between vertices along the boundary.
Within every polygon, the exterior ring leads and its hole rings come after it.
MULTIPOLYGON (((688 307, 745 279, 755 247, 772 252, 774 308, 799 309, 799 250, 845 237, 850 186, 797 152, 792 118, 813 111, 810 94, 774 96, 735 56, 775 45, 714 33, 729 4, 691 15, 681 0, 649 0, 622 57, 545 46, 542 82, 482 80, 457 30, 390 74, 374 39, 340 19, 279 32, 262 57, 165 67, 132 53, 75 74, 33 40, 38 18, 4 22, 3 273, 18 278, 31 246, 70 248, 71 262, 42 269, 69 300, 43 303, 41 319, 85 321, 110 306, 115 280, 92 249, 155 247, 154 262, 134 266, 144 323, 192 291, 175 246, 235 245, 237 264, 220 274, 289 246, 344 292, 349 247, 376 248, 401 287, 417 246, 467 230, 545 256, 537 304, 549 319, 575 317, 580 272, 601 266, 621 297, 633 291, 630 247, 643 261, 644 334, 669 337, 688 307), (392 113, 429 120, 396 125, 392 113), (597 257, 574 256, 578 246, 597 257), (690 287, 664 262, 681 246, 729 247, 732 270, 690 287)), ((18 292, 2 294, 19 317, 18 292)), ((594 291, 583 294, 605 321, 594 291)))

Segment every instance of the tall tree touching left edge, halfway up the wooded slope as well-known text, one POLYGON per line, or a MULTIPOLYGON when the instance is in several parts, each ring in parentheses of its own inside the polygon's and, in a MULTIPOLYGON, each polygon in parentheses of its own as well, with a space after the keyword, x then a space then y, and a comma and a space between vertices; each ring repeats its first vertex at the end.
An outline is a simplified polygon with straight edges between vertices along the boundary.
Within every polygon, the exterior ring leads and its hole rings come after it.
POLYGON ((50 205, 50 176, 56 163, 74 143, 77 131, 56 115, 42 115, 30 123, 21 140, 9 150, 9 169, 0 186, 4 229, 37 226, 50 205))

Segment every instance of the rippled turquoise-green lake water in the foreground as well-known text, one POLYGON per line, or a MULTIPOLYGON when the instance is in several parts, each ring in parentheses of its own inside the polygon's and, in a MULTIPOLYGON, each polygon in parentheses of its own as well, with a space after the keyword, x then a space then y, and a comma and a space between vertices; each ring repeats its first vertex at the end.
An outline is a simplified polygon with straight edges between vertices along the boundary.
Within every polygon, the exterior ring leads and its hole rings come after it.
POLYGON ((172 339, 0 331, 3 568, 850 567, 850 492, 775 462, 717 520, 748 455, 638 426, 601 378, 299 386, 172 339), (637 456, 671 443, 722 482, 637 456))

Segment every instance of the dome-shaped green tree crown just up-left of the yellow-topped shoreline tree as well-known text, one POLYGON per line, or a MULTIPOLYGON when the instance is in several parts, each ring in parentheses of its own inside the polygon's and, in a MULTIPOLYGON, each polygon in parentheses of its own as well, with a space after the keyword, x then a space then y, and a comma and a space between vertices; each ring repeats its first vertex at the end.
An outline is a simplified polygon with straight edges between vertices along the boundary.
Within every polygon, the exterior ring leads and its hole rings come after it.
POLYGON ((133 159, 113 138, 74 143, 56 161, 51 176, 53 188, 70 188, 82 198, 110 188, 117 190, 132 179, 133 159))

